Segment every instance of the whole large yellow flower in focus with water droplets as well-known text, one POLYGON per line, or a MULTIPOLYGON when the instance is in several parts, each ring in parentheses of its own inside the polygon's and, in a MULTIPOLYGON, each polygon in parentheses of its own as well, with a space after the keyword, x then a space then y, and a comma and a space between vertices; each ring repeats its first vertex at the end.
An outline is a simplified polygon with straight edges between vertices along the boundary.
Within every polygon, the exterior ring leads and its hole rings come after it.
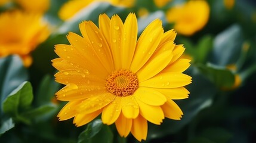
POLYGON ((55 80, 66 85, 56 93, 69 101, 58 113, 60 120, 74 117, 82 126, 99 114, 121 136, 129 132, 146 140, 147 121, 180 120, 183 112, 173 100, 188 97, 183 86, 192 77, 183 73, 190 60, 180 58, 183 45, 175 45, 176 33, 164 33, 162 21, 149 24, 137 40, 137 18, 130 13, 122 22, 118 15, 99 17, 99 28, 92 21, 79 24, 82 36, 70 32, 70 45, 55 45, 60 58, 52 60, 58 70, 55 80))

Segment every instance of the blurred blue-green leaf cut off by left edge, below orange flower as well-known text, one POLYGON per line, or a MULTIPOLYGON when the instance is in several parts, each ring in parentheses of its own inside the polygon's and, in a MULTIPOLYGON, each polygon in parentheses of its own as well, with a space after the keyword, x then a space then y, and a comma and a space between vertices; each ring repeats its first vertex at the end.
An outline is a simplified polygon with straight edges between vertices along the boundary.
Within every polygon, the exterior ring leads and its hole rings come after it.
MULTIPOLYGON (((0 104, 16 89, 22 82, 26 81, 27 70, 18 55, 0 58, 0 104)), ((2 105, 0 106, 2 113, 2 105)))

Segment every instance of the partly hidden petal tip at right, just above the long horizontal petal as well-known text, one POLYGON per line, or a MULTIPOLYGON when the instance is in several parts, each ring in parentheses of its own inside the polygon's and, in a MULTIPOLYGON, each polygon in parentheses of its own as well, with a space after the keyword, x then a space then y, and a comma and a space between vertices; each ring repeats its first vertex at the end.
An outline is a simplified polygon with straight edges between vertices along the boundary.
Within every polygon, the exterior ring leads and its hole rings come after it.
POLYGON ((190 66, 191 60, 186 58, 178 58, 178 60, 174 61, 174 63, 169 64, 162 70, 162 73, 172 72, 172 73, 183 73, 183 71, 187 70, 190 66))

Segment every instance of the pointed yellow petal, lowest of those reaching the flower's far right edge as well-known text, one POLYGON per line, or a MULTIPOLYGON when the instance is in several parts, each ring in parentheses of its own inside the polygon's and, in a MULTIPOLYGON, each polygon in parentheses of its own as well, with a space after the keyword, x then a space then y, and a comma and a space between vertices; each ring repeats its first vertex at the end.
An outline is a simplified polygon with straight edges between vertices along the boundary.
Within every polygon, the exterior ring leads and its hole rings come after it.
POLYGON ((182 100, 188 98, 190 94, 186 88, 154 88, 154 90, 161 92, 165 97, 170 98, 171 100, 182 100))

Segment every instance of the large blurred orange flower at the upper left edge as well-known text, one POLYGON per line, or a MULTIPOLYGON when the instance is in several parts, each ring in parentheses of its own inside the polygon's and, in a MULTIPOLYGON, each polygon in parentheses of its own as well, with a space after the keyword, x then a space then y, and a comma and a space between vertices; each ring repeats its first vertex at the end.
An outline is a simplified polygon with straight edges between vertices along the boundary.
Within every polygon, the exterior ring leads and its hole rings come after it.
POLYGON ((30 66, 30 52, 48 38, 50 31, 42 15, 7 11, 0 14, 0 57, 18 54, 30 66))

